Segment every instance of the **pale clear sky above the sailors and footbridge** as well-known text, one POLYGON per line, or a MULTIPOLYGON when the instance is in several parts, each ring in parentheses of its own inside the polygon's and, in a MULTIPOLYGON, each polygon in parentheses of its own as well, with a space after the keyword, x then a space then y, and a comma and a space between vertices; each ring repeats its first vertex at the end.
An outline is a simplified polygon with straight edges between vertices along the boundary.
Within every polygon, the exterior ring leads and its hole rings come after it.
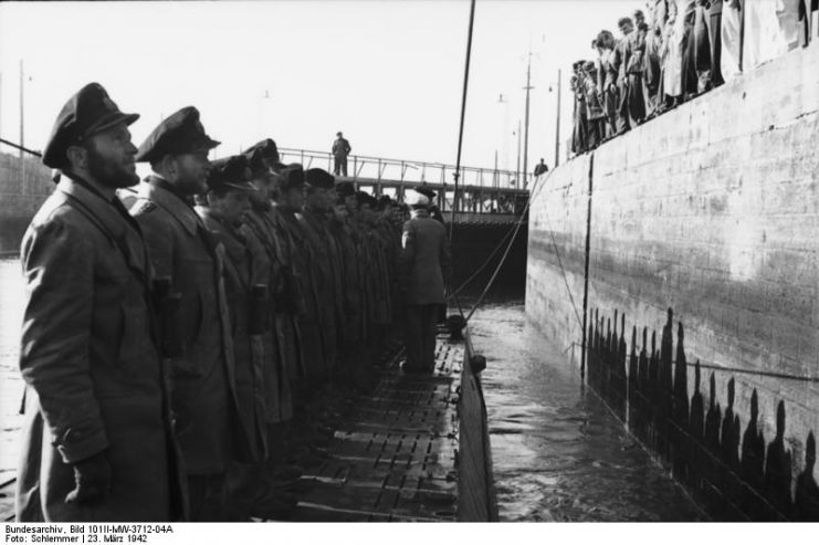
MULTIPOLYGON (((570 64, 643 7, 477 0, 462 164, 492 168, 497 154, 516 168, 527 59, 528 170, 554 165, 558 69, 563 160, 570 64)), ((469 11, 468 0, 1 2, 0 136, 20 143, 22 61, 23 144, 38 150, 69 97, 98 82, 141 115, 137 145, 193 105, 219 157, 267 137, 328 151, 343 130, 353 154, 454 165, 469 11)))

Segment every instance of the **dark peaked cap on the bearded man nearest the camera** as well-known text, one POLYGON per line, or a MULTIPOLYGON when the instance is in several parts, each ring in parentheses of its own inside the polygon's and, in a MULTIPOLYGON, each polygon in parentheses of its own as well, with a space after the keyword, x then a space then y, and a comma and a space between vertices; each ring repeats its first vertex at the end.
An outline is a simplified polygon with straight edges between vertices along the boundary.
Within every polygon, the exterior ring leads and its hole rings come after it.
POLYGON ((69 98, 60 111, 43 151, 43 164, 63 168, 69 158, 65 151, 95 134, 120 123, 130 125, 139 114, 124 114, 98 83, 90 83, 69 98))

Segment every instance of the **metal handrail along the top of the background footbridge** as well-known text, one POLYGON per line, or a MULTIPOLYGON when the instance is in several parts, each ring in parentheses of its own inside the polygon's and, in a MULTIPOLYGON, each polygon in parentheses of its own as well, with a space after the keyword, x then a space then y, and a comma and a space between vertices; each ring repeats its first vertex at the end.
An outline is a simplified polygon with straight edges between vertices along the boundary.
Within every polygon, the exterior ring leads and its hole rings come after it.
MULTIPOLYGON (((312 168, 315 163, 327 165, 327 171, 333 171, 333 154, 329 151, 317 151, 312 149, 279 148, 279 155, 283 163, 287 158, 296 159, 305 166, 312 168)), ((347 156, 348 178, 354 180, 359 178, 376 180, 396 180, 396 181, 414 181, 432 184, 452 184, 448 175, 455 172, 454 165, 443 163, 417 161, 407 159, 389 159, 384 157, 372 157, 367 155, 347 156), (388 169, 397 169, 386 177, 388 169), (365 176, 371 174, 371 176, 365 176)), ((494 168, 481 167, 461 167, 461 184, 465 186, 476 186, 496 189, 525 189, 528 187, 531 176, 525 172, 514 170, 502 170, 494 168)))

